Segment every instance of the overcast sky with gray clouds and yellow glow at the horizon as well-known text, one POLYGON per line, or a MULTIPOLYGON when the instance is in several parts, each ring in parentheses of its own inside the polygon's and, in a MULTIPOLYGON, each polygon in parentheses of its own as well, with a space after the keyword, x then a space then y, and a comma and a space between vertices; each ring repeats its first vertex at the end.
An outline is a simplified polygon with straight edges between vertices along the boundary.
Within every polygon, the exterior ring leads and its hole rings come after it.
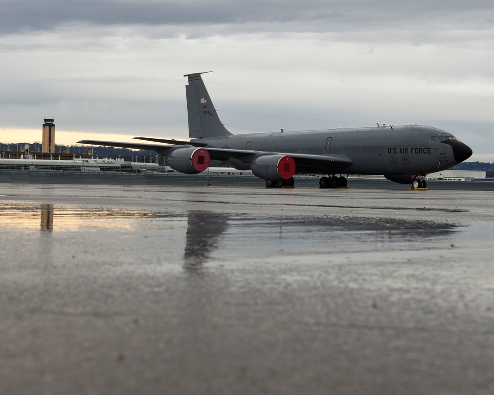
POLYGON ((422 124, 494 161, 492 0, 0 0, 0 141, 422 124))

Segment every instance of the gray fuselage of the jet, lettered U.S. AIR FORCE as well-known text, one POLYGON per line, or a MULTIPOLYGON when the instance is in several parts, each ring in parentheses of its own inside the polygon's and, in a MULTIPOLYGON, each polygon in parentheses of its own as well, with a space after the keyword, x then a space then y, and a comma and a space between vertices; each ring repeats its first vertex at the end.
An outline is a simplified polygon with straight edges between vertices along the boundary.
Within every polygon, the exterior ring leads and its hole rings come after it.
MULTIPOLYGON (((192 141, 206 142, 206 147, 211 148, 339 155, 353 162, 341 169, 344 174, 426 174, 464 160, 461 154, 464 144, 452 134, 418 125, 253 133, 192 141)), ((298 165, 295 172, 331 174, 334 168, 325 171, 320 166, 298 165)))

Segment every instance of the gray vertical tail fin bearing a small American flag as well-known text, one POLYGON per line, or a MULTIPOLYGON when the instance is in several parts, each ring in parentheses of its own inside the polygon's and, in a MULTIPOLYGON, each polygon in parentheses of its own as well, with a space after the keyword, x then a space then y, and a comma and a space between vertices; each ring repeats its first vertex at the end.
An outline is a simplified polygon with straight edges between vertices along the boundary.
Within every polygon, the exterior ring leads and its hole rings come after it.
POLYGON ((189 84, 185 85, 187 112, 189 114, 189 137, 229 136, 232 133, 221 123, 209 98, 201 74, 204 73, 186 74, 184 76, 189 79, 189 84))

